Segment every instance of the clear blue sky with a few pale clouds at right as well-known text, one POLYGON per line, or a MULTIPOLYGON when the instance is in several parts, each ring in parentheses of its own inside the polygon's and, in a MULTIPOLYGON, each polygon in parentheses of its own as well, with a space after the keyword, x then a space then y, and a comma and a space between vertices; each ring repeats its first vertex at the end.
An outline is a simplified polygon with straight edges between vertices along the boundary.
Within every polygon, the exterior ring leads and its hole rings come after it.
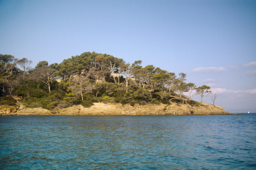
POLYGON ((87 51, 142 60, 210 86, 225 111, 256 113, 255 0, 0 0, 0 39, 0 54, 32 67, 87 51))

